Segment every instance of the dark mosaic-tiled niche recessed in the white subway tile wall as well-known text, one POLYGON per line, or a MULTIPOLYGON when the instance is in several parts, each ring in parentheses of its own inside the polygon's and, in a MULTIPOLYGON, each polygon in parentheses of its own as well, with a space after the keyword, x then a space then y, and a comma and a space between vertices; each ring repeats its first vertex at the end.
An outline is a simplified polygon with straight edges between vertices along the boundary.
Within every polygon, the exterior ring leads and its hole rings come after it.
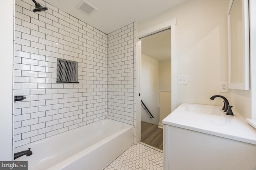
POLYGON ((78 62, 57 59, 57 82, 79 83, 78 62))

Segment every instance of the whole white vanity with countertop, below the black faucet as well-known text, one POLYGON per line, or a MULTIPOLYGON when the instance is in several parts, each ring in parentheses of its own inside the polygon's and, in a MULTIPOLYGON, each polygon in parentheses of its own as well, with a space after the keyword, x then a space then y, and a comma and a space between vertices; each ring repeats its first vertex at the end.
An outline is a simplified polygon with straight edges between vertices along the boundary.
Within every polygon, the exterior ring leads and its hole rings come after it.
POLYGON ((187 106, 163 120, 164 170, 256 170, 256 129, 246 119, 187 106))

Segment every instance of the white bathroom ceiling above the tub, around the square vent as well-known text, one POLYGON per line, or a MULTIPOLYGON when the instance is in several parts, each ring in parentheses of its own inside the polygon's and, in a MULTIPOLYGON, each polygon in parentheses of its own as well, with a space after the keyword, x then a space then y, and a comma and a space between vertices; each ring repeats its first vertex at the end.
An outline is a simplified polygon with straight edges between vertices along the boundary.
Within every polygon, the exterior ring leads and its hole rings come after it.
POLYGON ((97 8, 90 16, 76 9, 81 0, 44 1, 109 34, 134 21, 142 21, 160 14, 186 0, 86 0, 97 8))

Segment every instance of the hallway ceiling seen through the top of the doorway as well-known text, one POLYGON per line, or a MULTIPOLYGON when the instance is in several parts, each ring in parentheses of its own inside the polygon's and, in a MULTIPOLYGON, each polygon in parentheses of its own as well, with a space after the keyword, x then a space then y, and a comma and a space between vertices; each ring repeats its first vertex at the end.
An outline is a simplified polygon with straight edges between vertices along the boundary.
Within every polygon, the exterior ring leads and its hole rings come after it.
POLYGON ((141 53, 157 61, 171 60, 171 29, 141 39, 141 53))

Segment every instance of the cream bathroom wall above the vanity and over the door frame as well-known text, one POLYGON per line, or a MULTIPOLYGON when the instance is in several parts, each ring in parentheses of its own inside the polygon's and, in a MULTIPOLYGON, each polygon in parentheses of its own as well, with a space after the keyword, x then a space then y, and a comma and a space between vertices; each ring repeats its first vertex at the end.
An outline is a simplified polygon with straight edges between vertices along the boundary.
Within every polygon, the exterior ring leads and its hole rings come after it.
POLYGON ((177 106, 183 102, 222 105, 221 99, 209 100, 219 94, 228 98, 242 115, 250 117, 250 92, 219 92, 219 82, 228 81, 229 1, 189 0, 154 18, 138 22, 137 31, 177 19, 177 75, 188 75, 188 84, 177 85, 177 106))

